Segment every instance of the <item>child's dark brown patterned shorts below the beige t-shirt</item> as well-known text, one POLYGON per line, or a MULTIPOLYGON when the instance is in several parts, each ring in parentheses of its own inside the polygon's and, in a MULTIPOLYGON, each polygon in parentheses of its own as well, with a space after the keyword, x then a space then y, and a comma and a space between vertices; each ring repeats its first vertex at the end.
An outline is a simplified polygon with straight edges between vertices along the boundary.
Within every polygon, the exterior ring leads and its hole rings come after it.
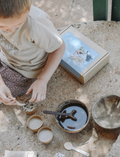
POLYGON ((30 85, 36 80, 24 77, 2 61, 0 61, 0 74, 14 97, 25 94, 30 85))

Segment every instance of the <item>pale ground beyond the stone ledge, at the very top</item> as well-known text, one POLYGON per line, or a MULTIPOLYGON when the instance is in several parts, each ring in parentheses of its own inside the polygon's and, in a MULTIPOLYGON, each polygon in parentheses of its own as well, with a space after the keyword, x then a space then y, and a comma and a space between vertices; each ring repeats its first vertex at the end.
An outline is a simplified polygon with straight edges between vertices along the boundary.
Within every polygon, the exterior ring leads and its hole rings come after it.
POLYGON ((56 28, 93 20, 92 0, 33 0, 50 15, 56 28))

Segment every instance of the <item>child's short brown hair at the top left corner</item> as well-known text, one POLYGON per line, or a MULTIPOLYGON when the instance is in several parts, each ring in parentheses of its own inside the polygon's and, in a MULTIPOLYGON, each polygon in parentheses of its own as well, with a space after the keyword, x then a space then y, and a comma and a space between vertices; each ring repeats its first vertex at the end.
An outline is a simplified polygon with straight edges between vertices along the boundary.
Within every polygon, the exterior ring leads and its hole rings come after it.
POLYGON ((30 9, 32 0, 0 0, 0 17, 20 16, 30 9))

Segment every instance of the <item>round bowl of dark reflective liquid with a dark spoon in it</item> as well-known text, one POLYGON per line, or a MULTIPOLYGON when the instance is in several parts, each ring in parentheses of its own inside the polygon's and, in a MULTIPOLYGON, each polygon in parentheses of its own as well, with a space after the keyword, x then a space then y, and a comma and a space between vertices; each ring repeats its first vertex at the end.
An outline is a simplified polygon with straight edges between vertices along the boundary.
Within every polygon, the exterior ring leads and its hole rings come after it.
POLYGON ((74 117, 77 121, 70 117, 55 115, 55 120, 60 128, 69 133, 78 133, 82 131, 88 124, 90 115, 87 106, 78 100, 67 100, 62 102, 56 109, 56 112, 70 113, 76 110, 74 117))

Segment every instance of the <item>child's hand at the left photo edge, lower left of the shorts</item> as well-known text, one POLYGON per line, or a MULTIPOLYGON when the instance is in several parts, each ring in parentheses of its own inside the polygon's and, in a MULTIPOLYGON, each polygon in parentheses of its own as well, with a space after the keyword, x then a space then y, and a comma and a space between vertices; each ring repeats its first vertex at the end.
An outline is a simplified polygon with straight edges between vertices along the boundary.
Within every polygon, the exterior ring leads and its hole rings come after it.
POLYGON ((6 85, 0 85, 0 101, 5 105, 17 105, 16 99, 12 96, 6 85))

